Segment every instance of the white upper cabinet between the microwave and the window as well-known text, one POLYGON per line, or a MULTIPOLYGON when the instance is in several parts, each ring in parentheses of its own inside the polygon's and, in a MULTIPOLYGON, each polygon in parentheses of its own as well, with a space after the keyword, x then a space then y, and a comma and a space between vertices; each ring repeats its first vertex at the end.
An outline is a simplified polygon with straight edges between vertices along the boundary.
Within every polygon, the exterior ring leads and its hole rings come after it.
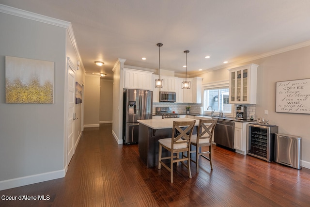
POLYGON ((182 89, 183 103, 202 103, 202 78, 189 78, 187 81, 191 86, 190 89, 182 89))

